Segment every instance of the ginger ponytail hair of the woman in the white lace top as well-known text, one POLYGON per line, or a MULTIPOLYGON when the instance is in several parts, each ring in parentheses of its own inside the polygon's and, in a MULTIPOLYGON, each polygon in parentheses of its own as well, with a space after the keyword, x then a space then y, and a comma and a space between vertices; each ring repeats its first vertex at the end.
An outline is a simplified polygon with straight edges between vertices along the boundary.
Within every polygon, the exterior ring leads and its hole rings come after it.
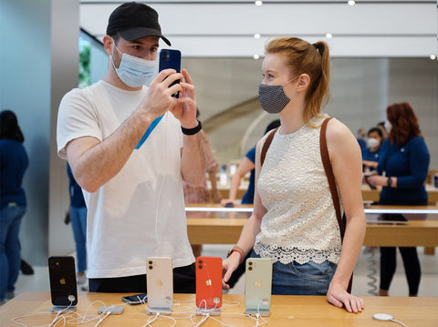
POLYGON ((330 57, 328 45, 318 41, 311 45, 298 37, 280 37, 270 41, 266 54, 281 54, 286 58, 293 76, 308 74, 310 83, 306 93, 304 121, 318 116, 330 98, 330 57))

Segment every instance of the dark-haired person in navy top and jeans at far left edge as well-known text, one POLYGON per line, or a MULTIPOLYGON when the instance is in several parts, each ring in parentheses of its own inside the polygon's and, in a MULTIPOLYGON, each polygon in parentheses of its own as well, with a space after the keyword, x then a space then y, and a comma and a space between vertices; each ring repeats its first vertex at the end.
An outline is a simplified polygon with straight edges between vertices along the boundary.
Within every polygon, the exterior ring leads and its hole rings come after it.
POLYGON ((18 232, 26 212, 22 187, 28 165, 25 138, 10 110, 0 113, 0 304, 14 297, 21 255, 18 232))

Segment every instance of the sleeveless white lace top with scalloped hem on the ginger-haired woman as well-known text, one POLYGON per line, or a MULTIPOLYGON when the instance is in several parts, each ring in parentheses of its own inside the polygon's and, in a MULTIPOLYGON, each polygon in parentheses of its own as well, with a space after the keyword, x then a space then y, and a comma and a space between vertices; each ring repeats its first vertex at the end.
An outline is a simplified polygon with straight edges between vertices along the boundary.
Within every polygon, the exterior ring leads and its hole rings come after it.
POLYGON ((318 128, 276 131, 266 152, 257 189, 267 212, 254 246, 262 258, 284 264, 339 261, 339 225, 319 150, 323 120, 310 121, 318 128))

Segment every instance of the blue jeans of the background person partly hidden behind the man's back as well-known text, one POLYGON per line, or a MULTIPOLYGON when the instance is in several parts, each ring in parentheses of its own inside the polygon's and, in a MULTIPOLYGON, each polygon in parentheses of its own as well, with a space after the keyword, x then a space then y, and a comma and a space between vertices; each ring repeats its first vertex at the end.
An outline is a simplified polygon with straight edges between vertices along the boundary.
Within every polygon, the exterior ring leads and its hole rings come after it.
POLYGON ((78 271, 87 270, 87 207, 70 207, 71 227, 76 243, 78 271))

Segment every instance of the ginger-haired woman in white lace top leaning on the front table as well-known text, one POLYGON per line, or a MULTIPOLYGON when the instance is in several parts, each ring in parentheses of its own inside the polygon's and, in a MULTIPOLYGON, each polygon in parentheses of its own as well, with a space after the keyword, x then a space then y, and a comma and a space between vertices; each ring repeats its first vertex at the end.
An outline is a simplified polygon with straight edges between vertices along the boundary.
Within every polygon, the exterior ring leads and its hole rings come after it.
POLYGON ((360 147, 339 120, 328 122, 328 153, 347 218, 342 245, 319 152, 319 129, 326 118, 320 112, 329 97, 328 46, 296 37, 272 40, 262 70, 260 104, 279 113, 281 127, 262 169, 266 137, 257 143, 254 211, 224 261, 224 288, 254 247, 253 257, 274 263, 274 294, 327 294, 333 305, 361 312, 363 301, 347 291, 365 235, 360 147))

